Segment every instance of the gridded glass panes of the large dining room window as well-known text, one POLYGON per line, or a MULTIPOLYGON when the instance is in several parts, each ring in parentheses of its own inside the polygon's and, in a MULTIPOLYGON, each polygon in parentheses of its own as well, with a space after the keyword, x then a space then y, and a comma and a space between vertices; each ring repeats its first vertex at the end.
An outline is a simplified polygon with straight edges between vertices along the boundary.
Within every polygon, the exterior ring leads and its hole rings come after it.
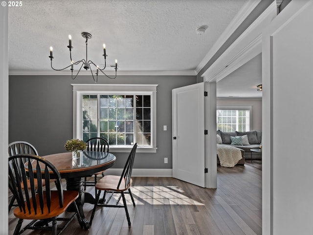
POLYGON ((100 136, 110 145, 137 142, 151 146, 151 95, 99 94, 82 98, 84 141, 100 136))

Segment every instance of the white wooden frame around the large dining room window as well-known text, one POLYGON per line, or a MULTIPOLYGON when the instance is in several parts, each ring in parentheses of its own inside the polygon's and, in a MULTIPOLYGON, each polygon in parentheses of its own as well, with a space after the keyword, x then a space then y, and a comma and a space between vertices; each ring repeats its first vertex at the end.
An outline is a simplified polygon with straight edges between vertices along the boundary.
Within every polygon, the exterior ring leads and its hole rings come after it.
MULTIPOLYGON (((83 139, 82 95, 131 94, 151 95, 151 146, 138 146, 137 152, 156 152, 156 87, 157 85, 132 84, 71 84, 73 86, 73 138, 83 139)), ((129 152, 130 146, 110 146, 110 152, 129 152)))

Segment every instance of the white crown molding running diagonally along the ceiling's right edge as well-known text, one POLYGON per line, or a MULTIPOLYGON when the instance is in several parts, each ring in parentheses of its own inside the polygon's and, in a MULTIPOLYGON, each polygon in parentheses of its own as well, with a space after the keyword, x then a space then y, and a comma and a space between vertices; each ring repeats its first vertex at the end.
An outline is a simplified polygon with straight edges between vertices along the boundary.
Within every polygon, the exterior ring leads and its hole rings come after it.
POLYGON ((235 18, 226 27, 219 39, 214 43, 209 52, 202 59, 200 64, 196 68, 197 74, 207 64, 215 53, 222 47, 227 39, 237 30, 240 24, 247 18, 247 16, 255 9, 255 7, 261 2, 261 0, 248 0, 246 4, 240 9, 235 18))

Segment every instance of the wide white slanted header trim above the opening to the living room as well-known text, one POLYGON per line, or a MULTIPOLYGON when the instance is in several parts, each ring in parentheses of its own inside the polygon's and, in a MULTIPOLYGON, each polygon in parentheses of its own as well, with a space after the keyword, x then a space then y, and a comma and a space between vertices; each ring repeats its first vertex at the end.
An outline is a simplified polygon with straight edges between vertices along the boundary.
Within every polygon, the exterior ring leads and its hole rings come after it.
POLYGON ((276 16, 276 2, 273 1, 202 74, 203 80, 205 82, 218 82, 253 57, 262 53, 262 32, 276 16))

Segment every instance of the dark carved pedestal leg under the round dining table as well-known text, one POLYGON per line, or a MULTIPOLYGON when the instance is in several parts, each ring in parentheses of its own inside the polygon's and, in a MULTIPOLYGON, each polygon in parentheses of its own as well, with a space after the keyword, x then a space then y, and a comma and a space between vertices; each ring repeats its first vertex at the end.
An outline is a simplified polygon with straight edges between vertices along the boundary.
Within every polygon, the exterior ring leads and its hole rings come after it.
MULTIPOLYGON (((79 198, 80 200, 76 201, 77 208, 78 208, 78 222, 79 224, 84 227, 85 229, 89 229, 89 222, 85 217, 84 210, 83 210, 83 205, 85 202, 85 194, 84 194, 84 189, 83 189, 83 179, 80 177, 77 178, 67 178, 67 190, 73 190, 73 191, 78 191, 79 192, 79 198)), ((69 211, 73 211, 74 208, 70 206, 68 208, 69 211)))

